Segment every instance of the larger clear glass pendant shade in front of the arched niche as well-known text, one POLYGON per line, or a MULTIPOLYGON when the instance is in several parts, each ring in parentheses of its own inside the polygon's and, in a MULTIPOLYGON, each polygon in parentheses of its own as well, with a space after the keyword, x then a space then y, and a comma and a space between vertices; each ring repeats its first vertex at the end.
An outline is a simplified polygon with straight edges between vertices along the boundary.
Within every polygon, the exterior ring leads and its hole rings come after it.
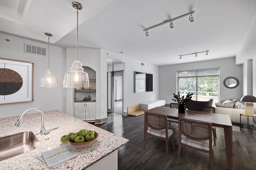
POLYGON ((72 62, 70 71, 65 73, 64 88, 89 88, 90 82, 86 72, 83 71, 82 63, 79 60, 72 62))

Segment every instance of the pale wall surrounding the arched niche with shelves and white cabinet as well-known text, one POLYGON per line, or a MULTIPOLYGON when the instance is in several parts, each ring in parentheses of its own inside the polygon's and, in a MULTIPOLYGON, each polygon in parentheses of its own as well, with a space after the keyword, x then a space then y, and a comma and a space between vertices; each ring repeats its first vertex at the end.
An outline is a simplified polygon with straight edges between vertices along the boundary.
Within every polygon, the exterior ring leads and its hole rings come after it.
MULTIPOLYGON (((67 70, 76 60, 76 48, 66 48, 67 70)), ((107 58, 99 48, 79 48, 78 60, 96 71, 96 119, 107 117, 107 58)), ((74 116, 74 89, 67 88, 67 113, 74 116)))

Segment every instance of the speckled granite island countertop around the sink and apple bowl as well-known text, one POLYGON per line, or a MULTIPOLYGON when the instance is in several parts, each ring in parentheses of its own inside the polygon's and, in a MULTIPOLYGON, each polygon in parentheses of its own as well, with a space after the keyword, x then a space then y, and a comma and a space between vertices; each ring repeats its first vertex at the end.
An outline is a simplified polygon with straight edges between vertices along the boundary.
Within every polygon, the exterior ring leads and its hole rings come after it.
MULTIPOLYGON (((99 137, 92 144, 85 147, 68 146, 78 154, 76 158, 67 161, 58 170, 81 170, 94 164, 96 161, 117 150, 128 142, 128 139, 116 136, 106 130, 91 125, 69 116, 61 111, 48 111, 44 114, 44 123, 47 130, 46 135, 40 134, 41 114, 27 114, 23 118, 20 127, 14 126, 20 116, 13 116, 0 119, 0 137, 9 136, 25 131, 32 131, 38 138, 41 146, 28 153, 0 161, 1 170, 45 170, 47 165, 38 161, 35 157, 41 152, 50 150, 61 145, 61 136, 70 132, 78 132, 80 129, 94 130, 99 133, 99 137)), ((104 169, 104 167, 102 167, 104 169)))

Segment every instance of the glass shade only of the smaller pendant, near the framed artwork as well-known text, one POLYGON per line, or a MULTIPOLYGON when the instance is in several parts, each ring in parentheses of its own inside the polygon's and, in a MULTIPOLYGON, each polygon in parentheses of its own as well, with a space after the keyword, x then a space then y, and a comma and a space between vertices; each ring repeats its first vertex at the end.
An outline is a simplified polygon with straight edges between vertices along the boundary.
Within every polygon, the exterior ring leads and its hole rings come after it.
POLYGON ((57 79, 49 69, 45 71, 44 76, 41 77, 40 87, 53 88, 58 87, 57 79))

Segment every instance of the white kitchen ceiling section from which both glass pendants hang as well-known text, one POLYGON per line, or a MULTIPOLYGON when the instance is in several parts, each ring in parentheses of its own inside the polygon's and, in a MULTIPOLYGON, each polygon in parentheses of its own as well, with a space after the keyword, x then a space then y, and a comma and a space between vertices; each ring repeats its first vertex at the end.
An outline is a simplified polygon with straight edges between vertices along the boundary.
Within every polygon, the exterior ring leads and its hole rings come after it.
MULTIPOLYGON (((79 24, 87 20, 110 0, 79 0, 79 24)), ((76 28, 73 0, 0 0, 0 30, 35 40, 55 43, 76 28)), ((76 42, 75 42, 76 43, 76 42)))

